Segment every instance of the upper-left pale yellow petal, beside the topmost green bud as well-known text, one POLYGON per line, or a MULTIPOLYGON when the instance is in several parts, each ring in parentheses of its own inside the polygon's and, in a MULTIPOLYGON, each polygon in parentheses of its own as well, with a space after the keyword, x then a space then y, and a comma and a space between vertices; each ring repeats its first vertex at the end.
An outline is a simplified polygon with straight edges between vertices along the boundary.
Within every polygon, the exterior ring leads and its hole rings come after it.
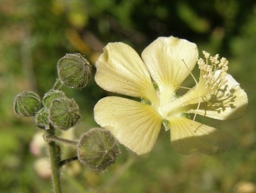
POLYGON ((125 43, 108 43, 96 61, 97 84, 107 91, 158 101, 148 69, 125 43))

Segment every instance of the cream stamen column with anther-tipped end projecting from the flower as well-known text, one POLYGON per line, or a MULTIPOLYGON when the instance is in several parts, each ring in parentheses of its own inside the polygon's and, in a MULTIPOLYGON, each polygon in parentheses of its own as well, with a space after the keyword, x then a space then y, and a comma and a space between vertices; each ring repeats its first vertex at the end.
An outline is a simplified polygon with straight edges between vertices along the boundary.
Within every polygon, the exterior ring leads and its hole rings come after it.
MULTIPOLYGON (((158 111, 163 118, 182 116, 183 113, 189 110, 199 110, 201 102, 210 103, 209 96, 214 94, 215 91, 221 90, 226 84, 226 71, 228 70, 228 60, 222 57, 218 60, 219 56, 210 56, 209 53, 203 51, 205 61, 202 58, 198 59, 198 66, 200 70, 199 81, 197 82, 191 73, 191 76, 195 80, 196 85, 193 88, 187 88, 189 91, 181 97, 173 96, 169 105, 159 107, 158 111)), ((186 65, 185 61, 183 61, 186 65)), ((195 120, 196 113, 193 120, 195 120)))

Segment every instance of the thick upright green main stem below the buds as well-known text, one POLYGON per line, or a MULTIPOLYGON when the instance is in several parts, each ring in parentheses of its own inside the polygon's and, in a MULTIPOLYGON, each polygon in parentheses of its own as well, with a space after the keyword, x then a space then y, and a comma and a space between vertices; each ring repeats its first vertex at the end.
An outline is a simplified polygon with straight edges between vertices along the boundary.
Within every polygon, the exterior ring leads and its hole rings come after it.
MULTIPOLYGON (((48 135, 54 135, 54 128, 51 127, 45 130, 48 135)), ((52 169, 52 182, 54 193, 61 193, 61 181, 60 181, 60 149, 56 146, 54 141, 46 141, 48 146, 48 154, 50 158, 50 167, 52 169)))

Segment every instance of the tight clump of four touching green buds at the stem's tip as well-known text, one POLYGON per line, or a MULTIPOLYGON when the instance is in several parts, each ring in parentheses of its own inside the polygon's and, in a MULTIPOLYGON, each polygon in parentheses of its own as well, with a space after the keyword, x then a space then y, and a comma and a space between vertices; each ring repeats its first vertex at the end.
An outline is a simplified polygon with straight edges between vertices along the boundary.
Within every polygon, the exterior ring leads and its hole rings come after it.
POLYGON ((19 93, 14 99, 14 112, 18 116, 34 116, 40 128, 49 129, 50 124, 62 130, 73 127, 80 119, 79 106, 64 92, 50 90, 41 101, 32 91, 19 93))

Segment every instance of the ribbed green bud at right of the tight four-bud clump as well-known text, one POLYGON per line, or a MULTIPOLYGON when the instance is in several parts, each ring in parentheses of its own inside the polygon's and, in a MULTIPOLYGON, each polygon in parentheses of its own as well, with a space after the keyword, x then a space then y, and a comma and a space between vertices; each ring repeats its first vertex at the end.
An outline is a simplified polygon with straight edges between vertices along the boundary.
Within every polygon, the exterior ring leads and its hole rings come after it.
POLYGON ((58 129, 68 130, 80 117, 79 106, 74 99, 55 99, 49 108, 49 121, 58 129))

